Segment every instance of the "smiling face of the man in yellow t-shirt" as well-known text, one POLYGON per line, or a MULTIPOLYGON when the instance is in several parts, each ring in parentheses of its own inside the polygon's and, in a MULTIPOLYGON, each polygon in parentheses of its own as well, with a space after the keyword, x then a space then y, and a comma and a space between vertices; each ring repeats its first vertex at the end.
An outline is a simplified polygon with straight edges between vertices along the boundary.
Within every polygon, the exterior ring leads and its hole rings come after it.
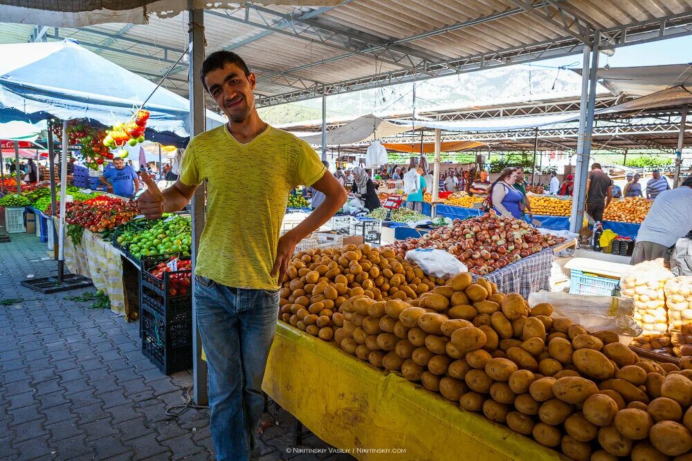
POLYGON ((235 64, 226 63, 223 68, 210 70, 204 84, 231 122, 243 122, 255 109, 255 74, 246 76, 235 64))

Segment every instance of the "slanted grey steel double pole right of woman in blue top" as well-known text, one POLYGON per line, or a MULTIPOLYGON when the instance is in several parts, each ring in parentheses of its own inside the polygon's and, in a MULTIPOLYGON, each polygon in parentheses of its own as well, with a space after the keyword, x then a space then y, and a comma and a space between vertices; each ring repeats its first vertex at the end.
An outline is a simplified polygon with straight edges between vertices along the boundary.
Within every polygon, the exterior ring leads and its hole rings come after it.
POLYGON ((596 102, 596 81, 599 68, 599 42, 601 32, 594 34, 594 45, 591 50, 584 48, 584 64, 581 79, 581 102, 579 108, 579 138, 576 147, 576 171, 574 176, 574 194, 572 197, 572 215, 570 232, 579 232, 584 216, 586 182, 589 173, 589 154, 591 135, 594 126, 594 105, 596 102), (590 62, 591 61, 591 62, 590 62))

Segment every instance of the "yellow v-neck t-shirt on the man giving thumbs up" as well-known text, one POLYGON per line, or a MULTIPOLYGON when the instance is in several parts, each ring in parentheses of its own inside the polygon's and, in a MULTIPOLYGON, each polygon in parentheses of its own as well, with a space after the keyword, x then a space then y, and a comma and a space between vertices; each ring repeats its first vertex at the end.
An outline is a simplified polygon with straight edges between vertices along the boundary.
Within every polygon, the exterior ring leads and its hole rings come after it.
POLYGON ((277 288, 269 273, 289 193, 313 185, 325 171, 307 142, 273 126, 246 144, 226 124, 193 138, 180 180, 188 186, 207 181, 195 273, 233 288, 277 288))

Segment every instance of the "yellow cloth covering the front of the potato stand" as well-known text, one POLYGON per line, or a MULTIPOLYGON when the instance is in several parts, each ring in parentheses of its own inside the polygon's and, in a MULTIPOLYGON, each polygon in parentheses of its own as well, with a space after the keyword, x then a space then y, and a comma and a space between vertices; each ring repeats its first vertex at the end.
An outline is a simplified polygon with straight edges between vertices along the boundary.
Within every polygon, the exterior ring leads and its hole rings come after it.
POLYGON ((320 439, 358 460, 567 459, 284 322, 277 323, 262 389, 320 439), (363 447, 390 452, 359 453, 363 447))

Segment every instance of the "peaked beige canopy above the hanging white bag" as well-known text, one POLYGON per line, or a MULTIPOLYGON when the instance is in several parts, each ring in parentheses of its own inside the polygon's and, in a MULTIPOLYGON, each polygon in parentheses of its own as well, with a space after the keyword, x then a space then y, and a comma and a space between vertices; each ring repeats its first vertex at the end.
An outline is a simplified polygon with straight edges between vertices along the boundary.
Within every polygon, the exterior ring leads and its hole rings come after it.
MULTIPOLYGON (((363 115, 336 129, 327 131, 327 146, 343 146, 367 142, 387 136, 398 135, 412 128, 382 120, 375 115, 363 115)), ((322 133, 306 136, 302 140, 309 144, 322 144, 322 133)))

